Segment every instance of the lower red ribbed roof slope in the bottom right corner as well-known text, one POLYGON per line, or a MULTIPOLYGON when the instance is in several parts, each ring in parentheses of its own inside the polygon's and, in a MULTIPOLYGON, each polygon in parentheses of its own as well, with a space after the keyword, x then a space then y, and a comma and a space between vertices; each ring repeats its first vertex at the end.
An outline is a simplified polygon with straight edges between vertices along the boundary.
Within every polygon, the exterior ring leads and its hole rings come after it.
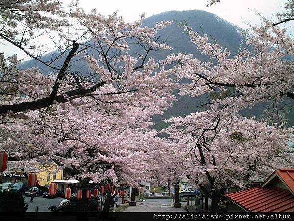
POLYGON ((225 196, 251 212, 294 212, 294 196, 282 189, 253 187, 225 196))

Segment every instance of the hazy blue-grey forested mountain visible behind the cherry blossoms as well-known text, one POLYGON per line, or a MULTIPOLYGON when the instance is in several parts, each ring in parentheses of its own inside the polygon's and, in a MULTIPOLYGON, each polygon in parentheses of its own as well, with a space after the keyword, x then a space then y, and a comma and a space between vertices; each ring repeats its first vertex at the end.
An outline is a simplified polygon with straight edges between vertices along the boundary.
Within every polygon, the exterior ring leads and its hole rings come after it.
MULTIPOLYGON (((191 26, 195 31, 199 33, 206 33, 211 37, 212 41, 219 42, 222 46, 228 48, 228 50, 234 55, 237 51, 240 41, 243 40, 243 37, 239 34, 239 28, 235 25, 229 23, 226 20, 221 19, 220 17, 216 16, 215 14, 201 11, 201 10, 189 10, 189 11, 169 11, 163 12, 161 14, 153 15, 148 17, 144 20, 143 26, 154 27, 156 22, 160 21, 167 21, 173 20, 175 21, 171 26, 164 28, 158 33, 160 39, 162 41, 167 42, 173 49, 172 50, 165 50, 165 51, 152 51, 149 54, 149 57, 152 56, 155 60, 161 60, 165 58, 167 55, 174 52, 177 53, 187 53, 193 54, 194 57, 207 60, 208 57, 205 55, 200 54, 197 51, 196 46, 190 42, 190 38, 187 34, 183 33, 183 29, 179 27, 177 23, 184 22, 191 26)), ((97 56, 97 53, 91 50, 88 50, 88 54, 93 53, 93 56, 97 56)), ((132 51, 128 51, 129 54, 138 56, 137 54, 143 54, 139 48, 138 50, 133 49, 132 51)), ((50 60, 51 56, 58 55, 57 51, 51 53, 51 55, 46 55, 42 59, 50 60)), ((71 69, 83 70, 88 69, 85 62, 82 60, 76 59, 75 64, 71 69)), ((62 64, 63 58, 58 61, 55 61, 56 64, 62 64)), ((50 73, 53 70, 50 70, 49 67, 41 64, 38 61, 30 60, 22 64, 20 67, 23 69, 27 69, 29 67, 38 66, 44 74, 50 73)), ((74 71, 74 70, 73 70, 74 71)), ((185 116, 191 112, 196 111, 203 111, 203 107, 199 107, 203 103, 207 103, 208 96, 198 97, 198 98, 191 98, 188 96, 178 96, 178 101, 173 104, 172 108, 169 108, 164 115, 162 116, 155 116, 154 122, 156 122, 155 127, 161 129, 165 126, 165 123, 162 119, 168 119, 171 116, 185 116)), ((263 110, 265 109, 267 104, 258 104, 256 107, 252 109, 247 109, 242 111, 242 114, 245 116, 252 116, 255 115, 257 118, 263 114, 263 110)), ((290 104, 293 106, 293 104, 290 104)), ((294 120, 289 117, 290 125, 294 125, 294 120)))

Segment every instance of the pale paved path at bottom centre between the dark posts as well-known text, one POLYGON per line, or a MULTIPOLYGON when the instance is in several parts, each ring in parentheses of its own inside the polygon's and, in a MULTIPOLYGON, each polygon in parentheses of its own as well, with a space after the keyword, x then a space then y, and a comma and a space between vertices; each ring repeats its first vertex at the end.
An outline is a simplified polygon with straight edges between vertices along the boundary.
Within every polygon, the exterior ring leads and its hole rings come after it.
POLYGON ((172 199, 147 199, 144 204, 148 205, 139 205, 140 203, 137 202, 137 206, 129 206, 125 212, 183 212, 187 205, 187 202, 181 202, 181 208, 174 208, 172 199))

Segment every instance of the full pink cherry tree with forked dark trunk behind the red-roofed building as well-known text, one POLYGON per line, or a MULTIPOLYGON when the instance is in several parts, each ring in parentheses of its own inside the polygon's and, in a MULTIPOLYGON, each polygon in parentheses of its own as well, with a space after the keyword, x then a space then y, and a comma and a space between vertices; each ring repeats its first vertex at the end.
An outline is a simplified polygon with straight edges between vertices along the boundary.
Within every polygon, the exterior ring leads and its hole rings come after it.
POLYGON ((178 158, 172 169, 212 199, 212 211, 218 210, 225 191, 250 187, 273 169, 294 163, 287 143, 293 129, 279 129, 253 118, 216 120, 215 114, 205 111, 171 118, 172 126, 166 129, 178 158))

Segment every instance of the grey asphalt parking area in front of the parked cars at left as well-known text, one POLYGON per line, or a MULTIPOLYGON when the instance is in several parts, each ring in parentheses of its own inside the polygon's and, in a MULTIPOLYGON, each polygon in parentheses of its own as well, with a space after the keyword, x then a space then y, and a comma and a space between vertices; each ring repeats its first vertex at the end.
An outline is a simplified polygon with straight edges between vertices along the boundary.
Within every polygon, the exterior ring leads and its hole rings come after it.
POLYGON ((57 197, 54 199, 43 198, 42 196, 34 197, 33 202, 30 202, 30 197, 25 197, 25 203, 28 205, 27 212, 35 212, 36 206, 39 207, 39 212, 50 212, 48 207, 59 206, 63 198, 57 197))

